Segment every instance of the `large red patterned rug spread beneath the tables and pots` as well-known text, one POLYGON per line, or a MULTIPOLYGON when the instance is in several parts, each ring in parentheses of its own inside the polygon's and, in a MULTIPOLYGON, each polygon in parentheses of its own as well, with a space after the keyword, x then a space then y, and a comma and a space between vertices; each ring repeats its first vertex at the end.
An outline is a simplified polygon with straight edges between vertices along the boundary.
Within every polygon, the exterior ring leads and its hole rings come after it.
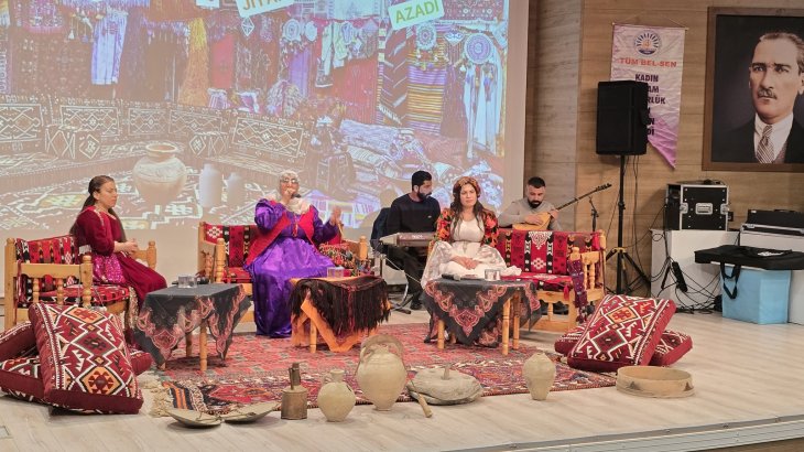
MULTIPOLYGON (((426 324, 382 325, 380 333, 399 338, 404 346, 403 359, 409 369, 409 377, 415 376, 417 369, 442 367, 452 364, 453 368, 475 376, 484 387, 484 396, 528 392, 522 377, 522 364, 534 352, 535 347, 520 344, 518 351, 510 351, 503 356, 499 348, 467 347, 447 345, 443 351, 435 343, 424 343, 426 324)), ((174 352, 176 355, 181 352, 174 352)), ((355 379, 355 370, 359 360, 359 348, 348 353, 332 353, 319 347, 315 355, 307 348, 291 346, 287 340, 269 340, 253 334, 238 335, 229 348, 224 366, 217 357, 209 353, 210 360, 207 374, 198 372, 197 357, 174 358, 167 362, 167 368, 160 372, 163 387, 169 400, 157 398, 154 413, 163 413, 164 408, 172 405, 204 412, 228 412, 240 405, 261 401, 280 401, 282 389, 289 386, 287 368, 294 362, 301 363, 302 385, 308 390, 308 407, 315 408, 318 389, 323 377, 329 369, 346 370, 346 381, 355 390, 358 403, 369 403, 355 379)), ((550 354, 553 360, 558 355, 550 354)), ((556 378, 553 390, 573 390, 613 386, 615 378, 607 375, 576 370, 563 363, 556 363, 556 378)), ((412 400, 406 392, 400 395, 399 401, 412 400)))

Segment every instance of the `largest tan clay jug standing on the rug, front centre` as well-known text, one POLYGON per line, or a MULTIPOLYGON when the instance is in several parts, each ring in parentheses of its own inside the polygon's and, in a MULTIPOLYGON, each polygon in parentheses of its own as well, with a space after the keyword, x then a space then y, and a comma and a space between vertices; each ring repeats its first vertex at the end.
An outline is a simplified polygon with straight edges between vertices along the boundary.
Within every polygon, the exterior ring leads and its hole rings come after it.
POLYGON ((391 409, 408 381, 403 349, 402 343, 387 334, 369 337, 360 349, 357 384, 380 411, 391 409))

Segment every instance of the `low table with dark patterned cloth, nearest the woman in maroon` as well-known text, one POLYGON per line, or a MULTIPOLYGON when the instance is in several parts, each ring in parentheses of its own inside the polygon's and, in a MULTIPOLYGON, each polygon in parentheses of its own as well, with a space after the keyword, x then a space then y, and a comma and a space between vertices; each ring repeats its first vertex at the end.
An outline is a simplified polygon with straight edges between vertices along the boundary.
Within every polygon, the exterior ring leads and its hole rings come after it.
POLYGON ((134 341, 164 368, 171 353, 185 337, 191 356, 192 333, 200 327, 198 357, 200 370, 207 369, 207 330, 215 338, 218 356, 226 359, 235 326, 248 311, 251 300, 242 284, 200 284, 194 288, 169 287, 149 293, 134 325, 134 341))

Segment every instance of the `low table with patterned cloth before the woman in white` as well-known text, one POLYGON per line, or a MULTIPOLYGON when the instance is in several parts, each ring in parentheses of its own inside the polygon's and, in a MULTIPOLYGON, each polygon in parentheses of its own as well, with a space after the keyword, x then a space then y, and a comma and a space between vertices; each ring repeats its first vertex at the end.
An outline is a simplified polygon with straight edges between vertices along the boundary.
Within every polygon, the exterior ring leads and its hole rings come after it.
POLYGON ((459 343, 474 345, 491 322, 502 318, 502 354, 508 355, 511 319, 513 349, 519 348, 519 325, 522 312, 530 319, 540 315, 536 284, 533 281, 486 281, 437 279, 430 281, 422 297, 437 325, 437 346, 444 348, 444 333, 459 343))

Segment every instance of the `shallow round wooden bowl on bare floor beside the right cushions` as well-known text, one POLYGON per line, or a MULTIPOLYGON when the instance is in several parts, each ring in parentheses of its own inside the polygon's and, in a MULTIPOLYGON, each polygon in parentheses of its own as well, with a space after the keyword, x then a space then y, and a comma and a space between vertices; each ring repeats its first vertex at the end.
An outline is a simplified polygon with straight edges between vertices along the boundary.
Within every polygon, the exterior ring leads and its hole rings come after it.
POLYGON ((654 366, 627 366, 617 370, 617 389, 641 397, 688 397, 695 392, 688 372, 654 366))

